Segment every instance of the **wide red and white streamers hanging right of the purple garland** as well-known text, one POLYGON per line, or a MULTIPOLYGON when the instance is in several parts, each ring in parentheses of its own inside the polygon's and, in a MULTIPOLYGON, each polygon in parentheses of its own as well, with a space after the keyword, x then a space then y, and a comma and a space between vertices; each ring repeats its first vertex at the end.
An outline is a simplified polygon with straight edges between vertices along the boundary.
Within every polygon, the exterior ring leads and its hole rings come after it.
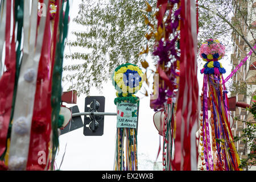
POLYGON ((180 1, 180 76, 177 92, 174 170, 197 170, 196 131, 199 119, 197 26, 195 1, 180 1))

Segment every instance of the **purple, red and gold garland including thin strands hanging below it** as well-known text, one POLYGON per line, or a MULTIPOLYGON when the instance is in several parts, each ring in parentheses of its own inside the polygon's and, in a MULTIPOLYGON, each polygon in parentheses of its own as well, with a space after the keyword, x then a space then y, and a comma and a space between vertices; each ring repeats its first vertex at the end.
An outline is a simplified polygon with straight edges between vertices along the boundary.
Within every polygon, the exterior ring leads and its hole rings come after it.
MULTIPOLYGON (((174 141, 175 133, 175 123, 174 123, 174 113, 170 111, 171 107, 174 109, 174 104, 167 104, 167 100, 176 100, 176 89, 177 89, 177 79, 179 67, 177 63, 180 59, 179 57, 179 29, 180 29, 180 1, 158 1, 156 8, 158 9, 154 14, 158 24, 156 27, 146 16, 145 23, 147 26, 151 27, 151 32, 147 33, 145 36, 147 40, 154 38, 154 56, 158 56, 158 63, 155 65, 156 71, 155 75, 159 76, 159 80, 156 83, 154 81, 153 89, 154 95, 156 90, 158 91, 158 97, 155 100, 150 101, 151 108, 155 111, 163 110, 164 121, 154 121, 156 125, 160 125, 161 133, 163 135, 163 170, 171 170, 171 160, 172 160, 172 145, 174 141), (164 16, 167 18, 164 19, 164 16), (157 87, 157 88, 155 88, 157 87), (169 119, 168 119, 169 118, 169 119), (172 118, 172 125, 170 122, 172 118)), ((151 12, 152 8, 147 3, 146 12, 151 12), (149 11, 148 11, 149 10, 149 11)), ((158 111, 159 112, 159 111, 158 111)), ((157 112, 157 113, 158 113, 157 112)), ((162 111, 161 111, 162 112, 162 111)), ((160 152, 160 143, 159 151, 160 152)), ((157 156, 158 158, 158 156, 157 156)), ((156 158, 156 159, 157 159, 156 158)))

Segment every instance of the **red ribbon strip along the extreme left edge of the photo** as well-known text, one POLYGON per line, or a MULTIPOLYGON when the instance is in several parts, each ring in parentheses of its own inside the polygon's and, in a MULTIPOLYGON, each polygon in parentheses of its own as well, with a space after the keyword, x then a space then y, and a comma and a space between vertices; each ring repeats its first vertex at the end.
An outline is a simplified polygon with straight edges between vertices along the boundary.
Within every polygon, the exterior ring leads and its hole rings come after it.
MULTIPOLYGON (((13 1, 14 12, 15 1, 13 1)), ((6 71, 0 79, 0 156, 6 150, 6 138, 11 117, 11 105, 16 71, 15 52, 15 17, 13 14, 13 36, 10 36, 11 29, 11 1, 6 1, 6 30, 5 30, 5 65, 6 71), (11 39, 11 44, 10 44, 11 39)), ((2 59, 2 57, 1 57, 2 59)))

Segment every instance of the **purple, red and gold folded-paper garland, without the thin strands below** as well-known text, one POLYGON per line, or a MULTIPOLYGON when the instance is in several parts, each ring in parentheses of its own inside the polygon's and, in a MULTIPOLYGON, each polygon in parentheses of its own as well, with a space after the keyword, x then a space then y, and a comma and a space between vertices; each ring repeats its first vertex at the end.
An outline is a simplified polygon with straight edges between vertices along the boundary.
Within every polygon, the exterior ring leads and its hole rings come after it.
POLYGON ((155 74, 159 74, 159 90, 158 98, 151 102, 155 110, 163 108, 169 97, 175 97, 176 69, 179 69, 177 60, 180 59, 178 36, 181 10, 179 1, 158 1, 156 7, 159 10, 156 13, 158 26, 154 33, 156 45, 153 55, 159 57, 155 72, 155 74), (176 9, 174 9, 175 6, 176 9), (167 18, 163 20, 166 14, 167 18))

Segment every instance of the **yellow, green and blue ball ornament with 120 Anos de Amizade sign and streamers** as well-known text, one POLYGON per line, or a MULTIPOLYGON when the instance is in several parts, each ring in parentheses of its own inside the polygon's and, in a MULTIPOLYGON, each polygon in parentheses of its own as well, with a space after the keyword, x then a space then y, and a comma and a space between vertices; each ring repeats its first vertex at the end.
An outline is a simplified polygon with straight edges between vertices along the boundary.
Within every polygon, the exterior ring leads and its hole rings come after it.
POLYGON ((139 98, 134 94, 141 89, 143 72, 134 64, 119 65, 112 81, 117 90, 117 137, 115 147, 115 170, 137 171, 137 122, 139 98))

